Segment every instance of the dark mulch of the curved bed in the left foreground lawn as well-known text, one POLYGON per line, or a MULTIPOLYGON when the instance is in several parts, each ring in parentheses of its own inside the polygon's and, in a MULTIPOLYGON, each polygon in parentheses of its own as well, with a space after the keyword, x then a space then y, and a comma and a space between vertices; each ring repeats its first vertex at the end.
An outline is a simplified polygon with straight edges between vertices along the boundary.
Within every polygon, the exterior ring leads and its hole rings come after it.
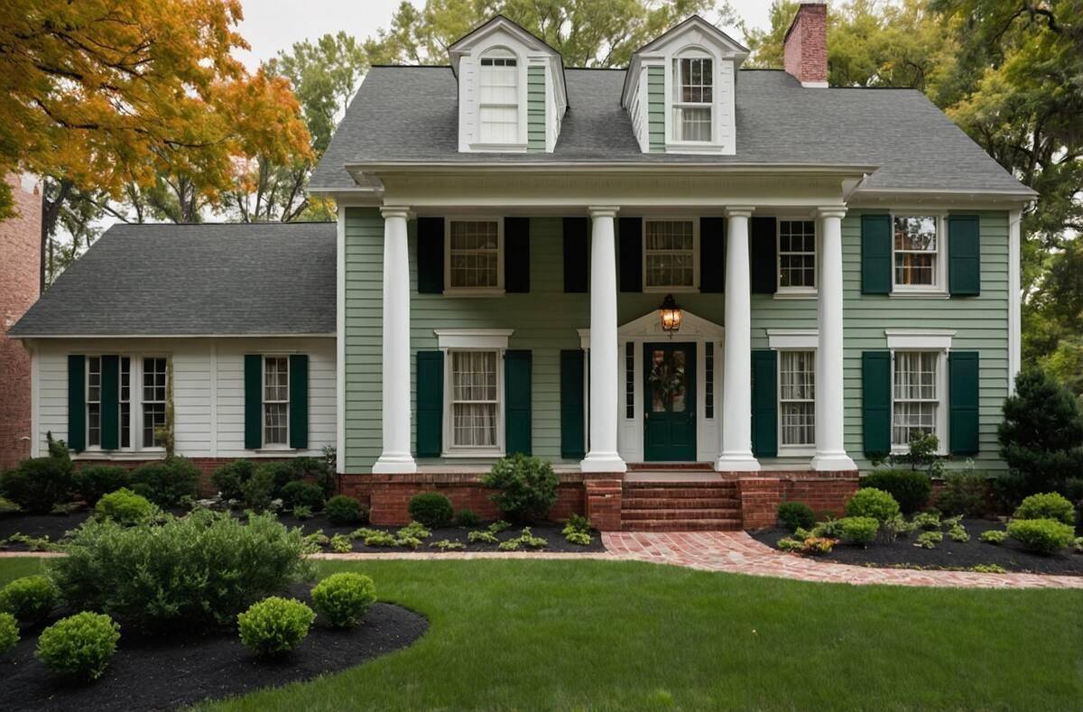
MULTIPOLYGON (((306 599, 308 586, 290 593, 306 599)), ((74 684, 34 658, 38 634, 51 622, 24 629, 15 649, 0 657, 0 710, 171 710, 353 668, 408 646, 429 627, 414 611, 377 603, 356 629, 330 630, 317 619, 297 649, 280 660, 262 661, 235 632, 148 637, 121 624, 105 674, 74 684)))

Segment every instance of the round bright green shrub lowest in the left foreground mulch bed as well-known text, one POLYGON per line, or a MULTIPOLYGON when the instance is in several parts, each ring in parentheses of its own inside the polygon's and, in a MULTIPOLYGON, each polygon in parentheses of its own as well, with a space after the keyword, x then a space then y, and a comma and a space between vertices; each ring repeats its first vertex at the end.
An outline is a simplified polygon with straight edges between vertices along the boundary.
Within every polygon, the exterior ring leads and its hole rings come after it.
POLYGON ((38 638, 35 656, 55 673, 97 680, 117 649, 120 627, 103 614, 83 611, 62 618, 38 638))

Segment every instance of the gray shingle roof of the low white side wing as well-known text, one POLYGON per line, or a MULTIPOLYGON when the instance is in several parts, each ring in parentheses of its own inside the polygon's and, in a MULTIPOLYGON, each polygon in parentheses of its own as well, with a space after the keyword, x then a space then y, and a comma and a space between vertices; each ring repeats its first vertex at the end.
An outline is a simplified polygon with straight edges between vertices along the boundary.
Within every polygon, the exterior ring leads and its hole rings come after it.
POLYGON ((335 223, 115 225, 9 333, 334 333, 335 250, 335 223))

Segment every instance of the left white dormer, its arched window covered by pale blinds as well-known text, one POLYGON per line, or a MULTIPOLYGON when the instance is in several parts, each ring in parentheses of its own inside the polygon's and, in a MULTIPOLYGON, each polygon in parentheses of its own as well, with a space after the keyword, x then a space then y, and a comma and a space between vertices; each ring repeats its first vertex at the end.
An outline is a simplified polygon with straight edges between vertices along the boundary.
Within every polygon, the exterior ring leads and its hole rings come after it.
POLYGON ((459 150, 551 153, 567 110, 560 54, 497 15, 451 48, 459 150))

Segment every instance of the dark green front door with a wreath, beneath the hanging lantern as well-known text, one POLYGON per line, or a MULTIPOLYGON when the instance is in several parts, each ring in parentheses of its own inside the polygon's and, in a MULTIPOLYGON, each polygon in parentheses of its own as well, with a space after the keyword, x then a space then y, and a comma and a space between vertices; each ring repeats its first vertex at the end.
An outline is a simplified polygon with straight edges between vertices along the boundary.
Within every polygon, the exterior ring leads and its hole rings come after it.
POLYGON ((695 460, 695 344, 643 345, 643 459, 695 460))

